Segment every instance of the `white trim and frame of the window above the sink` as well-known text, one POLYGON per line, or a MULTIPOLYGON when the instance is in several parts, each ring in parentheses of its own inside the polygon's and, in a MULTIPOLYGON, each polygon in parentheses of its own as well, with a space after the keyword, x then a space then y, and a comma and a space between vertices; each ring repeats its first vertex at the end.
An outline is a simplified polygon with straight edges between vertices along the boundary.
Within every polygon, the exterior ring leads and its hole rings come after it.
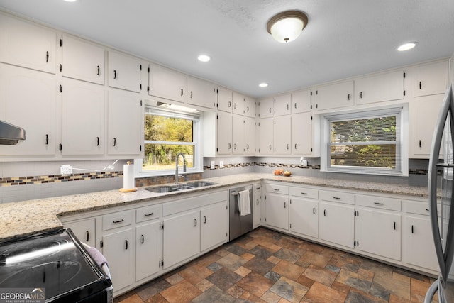
MULTIPOLYGON (((203 129, 203 119, 202 116, 197 113, 187 113, 179 111, 169 111, 165 109, 160 109, 155 106, 145 105, 143 115, 146 114, 155 114, 158 116, 165 116, 170 118, 178 119, 189 119, 194 121, 193 124, 193 141, 192 143, 185 142, 173 142, 173 141, 148 141, 145 140, 145 128, 143 128, 143 146, 145 153, 145 145, 150 142, 157 144, 177 144, 177 145, 194 145, 194 167, 187 167, 185 174, 199 173, 203 172, 203 146, 201 144, 201 130, 203 129)), ((145 123, 145 119, 144 119, 145 123)), ((145 155, 144 155, 145 156, 145 155)), ((134 160, 134 177, 157 177, 157 176, 166 176, 166 175, 175 175, 175 169, 172 170, 142 170, 143 158, 134 160)), ((179 170, 181 169, 181 165, 179 170)))

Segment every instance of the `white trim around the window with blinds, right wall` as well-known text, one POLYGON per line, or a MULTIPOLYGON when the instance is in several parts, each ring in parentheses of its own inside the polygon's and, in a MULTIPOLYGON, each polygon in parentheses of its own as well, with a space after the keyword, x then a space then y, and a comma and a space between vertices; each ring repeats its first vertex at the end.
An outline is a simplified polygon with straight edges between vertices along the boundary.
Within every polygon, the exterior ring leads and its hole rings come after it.
POLYGON ((388 175, 408 177, 409 175, 409 148, 408 148, 408 104, 395 104, 393 106, 363 108, 356 111, 342 111, 336 113, 327 113, 321 115, 321 172, 341 172, 361 175, 388 175), (382 116, 384 114, 397 113, 396 126, 397 131, 397 156, 399 157, 400 167, 396 169, 381 167, 354 167, 331 165, 331 121, 342 121, 349 119, 363 119, 382 116))

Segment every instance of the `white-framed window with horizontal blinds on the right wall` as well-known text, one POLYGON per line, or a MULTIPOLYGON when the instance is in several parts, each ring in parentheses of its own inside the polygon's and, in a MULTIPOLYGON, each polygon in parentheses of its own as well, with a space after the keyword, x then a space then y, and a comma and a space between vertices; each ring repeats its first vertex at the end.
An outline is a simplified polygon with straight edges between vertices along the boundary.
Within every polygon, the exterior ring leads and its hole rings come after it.
POLYGON ((408 176, 406 107, 324 116, 321 170, 408 176))

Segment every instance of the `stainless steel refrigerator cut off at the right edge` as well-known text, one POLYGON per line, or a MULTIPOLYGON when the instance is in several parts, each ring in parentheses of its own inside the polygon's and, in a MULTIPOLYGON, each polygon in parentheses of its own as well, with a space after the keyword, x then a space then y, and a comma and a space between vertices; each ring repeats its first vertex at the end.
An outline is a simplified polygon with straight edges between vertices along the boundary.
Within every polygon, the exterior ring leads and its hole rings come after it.
MULTIPOLYGON (((454 259, 454 54, 450 59, 450 84, 438 114, 438 122, 432 141, 428 167, 428 193, 431 213, 433 244, 440 272, 438 279, 428 289, 425 303, 432 302, 438 294, 438 302, 454 302, 454 280, 448 275, 454 259), (442 153, 440 153, 442 152, 442 153), (438 186, 441 185, 441 187, 438 186), (437 198, 438 193, 441 199, 437 198), (441 201, 438 214, 437 203, 441 201)), ((421 245, 424 245, 421 243, 421 245)))

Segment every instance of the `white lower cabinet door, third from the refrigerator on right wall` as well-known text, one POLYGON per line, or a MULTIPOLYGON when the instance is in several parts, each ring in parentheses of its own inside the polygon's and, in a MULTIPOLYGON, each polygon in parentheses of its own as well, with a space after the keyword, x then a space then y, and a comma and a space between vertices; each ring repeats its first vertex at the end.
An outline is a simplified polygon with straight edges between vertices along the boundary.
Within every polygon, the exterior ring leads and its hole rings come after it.
POLYGON ((353 248, 355 217, 353 206, 321 203, 319 207, 320 238, 353 248))

